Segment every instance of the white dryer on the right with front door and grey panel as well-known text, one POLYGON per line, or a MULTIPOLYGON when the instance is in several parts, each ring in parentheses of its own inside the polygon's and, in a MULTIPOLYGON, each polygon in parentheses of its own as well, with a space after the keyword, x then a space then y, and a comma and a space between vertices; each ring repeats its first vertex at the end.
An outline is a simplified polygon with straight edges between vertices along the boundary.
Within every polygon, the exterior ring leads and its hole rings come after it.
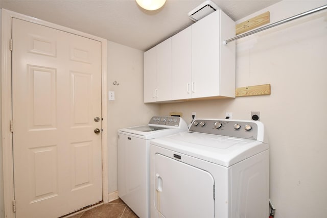
POLYGON ((151 140, 151 217, 269 216, 264 125, 197 119, 188 132, 151 140))

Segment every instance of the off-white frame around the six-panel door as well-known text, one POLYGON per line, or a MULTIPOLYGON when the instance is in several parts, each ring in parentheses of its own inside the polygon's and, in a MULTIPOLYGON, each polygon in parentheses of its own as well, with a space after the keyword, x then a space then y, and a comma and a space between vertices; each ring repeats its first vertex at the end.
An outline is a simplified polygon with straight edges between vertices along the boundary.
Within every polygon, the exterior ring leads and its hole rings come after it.
POLYGON ((48 21, 2 9, 1 25, 1 118, 2 118, 2 149, 3 149, 3 180, 5 217, 14 218, 14 174, 13 174, 13 143, 10 122, 12 120, 11 92, 11 51, 12 18, 36 23, 67 33, 72 33, 101 42, 101 110, 102 110, 102 200, 108 202, 108 120, 107 120, 107 40, 77 30, 62 27, 48 21))

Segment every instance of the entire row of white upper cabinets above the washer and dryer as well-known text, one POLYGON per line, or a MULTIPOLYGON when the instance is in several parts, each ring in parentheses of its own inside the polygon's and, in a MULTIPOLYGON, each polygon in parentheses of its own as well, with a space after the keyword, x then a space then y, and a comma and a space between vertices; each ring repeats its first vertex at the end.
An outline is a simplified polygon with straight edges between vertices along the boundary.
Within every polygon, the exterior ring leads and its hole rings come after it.
POLYGON ((235 41, 224 44, 234 36, 235 22, 217 10, 147 51, 145 102, 235 98, 235 41))

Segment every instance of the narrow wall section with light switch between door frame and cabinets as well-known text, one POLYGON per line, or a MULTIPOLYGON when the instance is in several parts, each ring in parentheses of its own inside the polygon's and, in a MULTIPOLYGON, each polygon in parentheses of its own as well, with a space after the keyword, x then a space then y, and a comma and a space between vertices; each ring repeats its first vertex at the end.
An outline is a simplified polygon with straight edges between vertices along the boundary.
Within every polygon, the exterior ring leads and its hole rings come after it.
POLYGON ((108 41, 108 90, 115 101, 108 102, 108 193, 117 185, 117 131, 149 123, 159 106, 143 103, 143 51, 108 41), (113 85, 113 82, 119 85, 113 85))

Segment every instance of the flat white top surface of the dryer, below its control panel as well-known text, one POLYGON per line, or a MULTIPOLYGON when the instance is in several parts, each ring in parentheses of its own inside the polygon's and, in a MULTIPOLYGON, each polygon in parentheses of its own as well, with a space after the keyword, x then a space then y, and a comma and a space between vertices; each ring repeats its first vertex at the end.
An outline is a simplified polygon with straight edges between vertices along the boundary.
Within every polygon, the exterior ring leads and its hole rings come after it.
POLYGON ((156 138, 151 144, 226 167, 269 149, 257 140, 193 132, 156 138))

